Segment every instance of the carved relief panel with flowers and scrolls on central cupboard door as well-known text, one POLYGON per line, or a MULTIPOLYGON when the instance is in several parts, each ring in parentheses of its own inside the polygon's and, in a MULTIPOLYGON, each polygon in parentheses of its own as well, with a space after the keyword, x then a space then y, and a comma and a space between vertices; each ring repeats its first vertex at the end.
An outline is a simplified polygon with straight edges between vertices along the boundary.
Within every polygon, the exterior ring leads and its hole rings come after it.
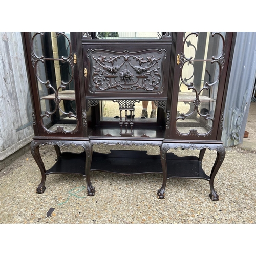
POLYGON ((128 90, 129 92, 163 92, 163 63, 165 50, 140 52, 88 50, 93 67, 89 91, 128 90))

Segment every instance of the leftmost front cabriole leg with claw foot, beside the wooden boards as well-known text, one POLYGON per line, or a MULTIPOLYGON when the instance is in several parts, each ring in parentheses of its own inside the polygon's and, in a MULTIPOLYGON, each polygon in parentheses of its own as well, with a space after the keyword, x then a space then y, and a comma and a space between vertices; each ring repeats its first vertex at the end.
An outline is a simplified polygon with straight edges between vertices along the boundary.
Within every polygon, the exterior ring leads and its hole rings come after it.
POLYGON ((46 189, 46 187, 45 187, 46 168, 45 168, 44 162, 42 162, 42 158, 40 156, 39 145, 40 144, 38 143, 38 141, 33 140, 30 144, 30 150, 31 150, 31 154, 32 154, 33 158, 35 159, 35 162, 36 162, 37 166, 39 167, 41 175, 42 175, 41 183, 36 188, 36 193, 42 194, 42 193, 44 193, 44 191, 46 189))

